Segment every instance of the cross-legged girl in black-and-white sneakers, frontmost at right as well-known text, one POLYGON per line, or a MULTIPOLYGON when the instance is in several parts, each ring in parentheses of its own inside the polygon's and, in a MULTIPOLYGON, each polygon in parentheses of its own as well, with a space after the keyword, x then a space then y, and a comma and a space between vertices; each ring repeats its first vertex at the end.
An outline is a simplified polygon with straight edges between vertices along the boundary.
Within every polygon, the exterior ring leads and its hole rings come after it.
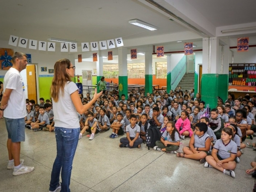
POLYGON ((204 167, 214 167, 224 175, 235 177, 237 145, 232 140, 233 132, 230 128, 223 128, 221 139, 215 143, 212 154, 206 157, 204 167))

